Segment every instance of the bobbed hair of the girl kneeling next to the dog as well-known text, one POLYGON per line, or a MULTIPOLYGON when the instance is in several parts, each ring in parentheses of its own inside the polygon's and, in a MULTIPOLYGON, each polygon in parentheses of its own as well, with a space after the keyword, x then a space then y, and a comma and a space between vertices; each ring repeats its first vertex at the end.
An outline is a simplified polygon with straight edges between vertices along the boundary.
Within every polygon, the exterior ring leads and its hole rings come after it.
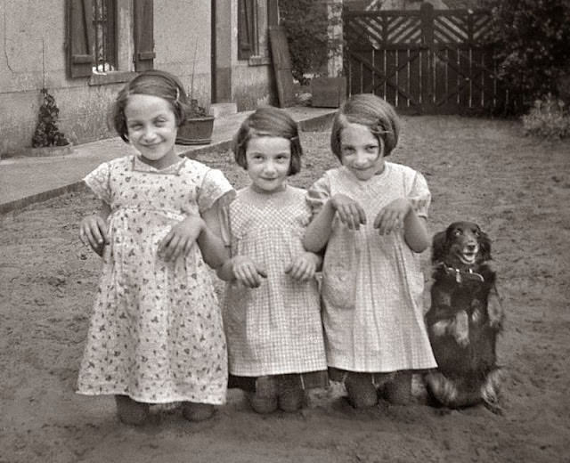
POLYGON ((330 149, 340 159, 340 134, 348 124, 367 126, 384 144, 384 156, 389 156, 398 144, 400 118, 386 100, 372 93, 351 96, 337 111, 330 132, 330 149))

